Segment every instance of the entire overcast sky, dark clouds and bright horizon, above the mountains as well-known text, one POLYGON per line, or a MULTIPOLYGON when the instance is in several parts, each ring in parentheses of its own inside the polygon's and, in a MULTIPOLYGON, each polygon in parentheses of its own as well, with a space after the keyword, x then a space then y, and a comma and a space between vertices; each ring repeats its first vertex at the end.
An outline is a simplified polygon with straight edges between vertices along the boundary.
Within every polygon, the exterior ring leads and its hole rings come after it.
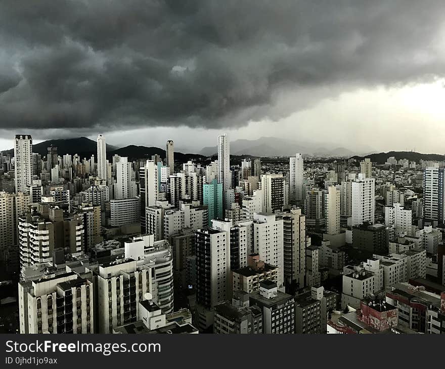
POLYGON ((0 3, 0 149, 104 133, 444 154, 445 2, 0 3))

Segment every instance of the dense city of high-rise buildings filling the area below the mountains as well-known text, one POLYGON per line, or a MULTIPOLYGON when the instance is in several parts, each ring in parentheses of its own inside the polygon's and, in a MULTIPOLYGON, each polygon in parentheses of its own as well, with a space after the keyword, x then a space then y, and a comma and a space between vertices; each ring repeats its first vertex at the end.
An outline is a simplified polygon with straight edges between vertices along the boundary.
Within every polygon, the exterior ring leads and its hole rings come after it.
POLYGON ((32 148, 0 156, 2 332, 445 333, 445 162, 32 148))

